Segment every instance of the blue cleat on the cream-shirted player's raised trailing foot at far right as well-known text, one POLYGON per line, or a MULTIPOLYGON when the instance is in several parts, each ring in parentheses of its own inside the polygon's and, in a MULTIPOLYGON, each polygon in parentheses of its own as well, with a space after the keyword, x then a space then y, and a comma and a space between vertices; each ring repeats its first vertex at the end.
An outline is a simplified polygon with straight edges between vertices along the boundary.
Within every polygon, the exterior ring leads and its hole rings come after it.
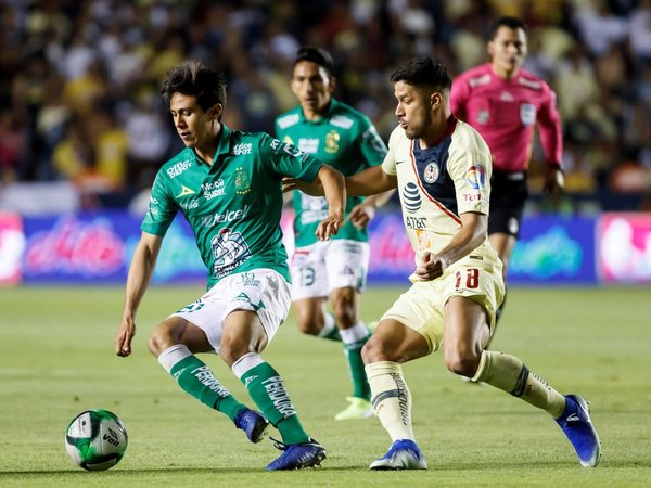
POLYGON ((590 421, 588 402, 578 395, 565 395, 565 410, 557 419, 582 466, 595 467, 601 459, 601 442, 590 421))

